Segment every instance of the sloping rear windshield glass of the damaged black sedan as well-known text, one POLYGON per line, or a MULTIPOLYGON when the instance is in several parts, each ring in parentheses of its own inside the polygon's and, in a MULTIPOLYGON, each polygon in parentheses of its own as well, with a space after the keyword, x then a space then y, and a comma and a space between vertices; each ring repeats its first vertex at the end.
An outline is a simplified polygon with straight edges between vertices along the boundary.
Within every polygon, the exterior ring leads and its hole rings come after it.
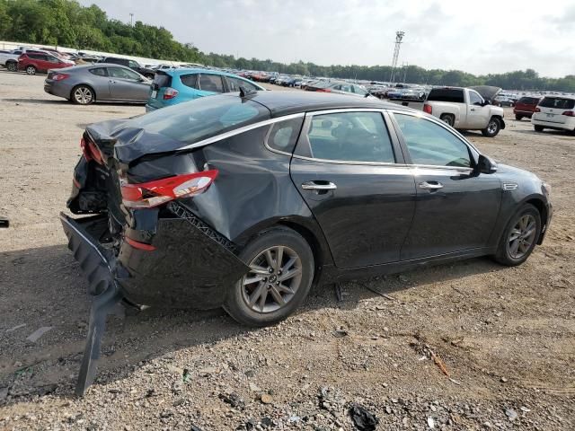
POLYGON ((264 119, 270 119, 270 111, 260 103, 217 95, 155 110, 129 120, 127 126, 193 144, 264 119))

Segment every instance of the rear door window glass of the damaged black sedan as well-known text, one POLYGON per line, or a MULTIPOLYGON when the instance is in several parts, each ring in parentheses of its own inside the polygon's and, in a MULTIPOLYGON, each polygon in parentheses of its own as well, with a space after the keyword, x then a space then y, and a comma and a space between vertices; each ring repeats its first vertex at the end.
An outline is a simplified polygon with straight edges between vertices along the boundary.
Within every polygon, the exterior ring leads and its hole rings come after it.
POLYGON ((395 163, 380 112, 315 115, 307 130, 311 156, 324 160, 395 163))

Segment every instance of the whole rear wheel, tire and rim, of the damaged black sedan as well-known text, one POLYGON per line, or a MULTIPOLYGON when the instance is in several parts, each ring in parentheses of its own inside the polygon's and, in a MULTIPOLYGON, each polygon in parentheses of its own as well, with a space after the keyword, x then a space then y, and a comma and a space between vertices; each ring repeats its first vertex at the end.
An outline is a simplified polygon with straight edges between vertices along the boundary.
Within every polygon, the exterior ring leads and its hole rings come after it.
POLYGON ((238 257, 252 270, 235 283, 224 305, 235 321, 252 327, 272 325, 286 319, 309 293, 314 253, 299 233, 287 227, 265 230, 238 257))

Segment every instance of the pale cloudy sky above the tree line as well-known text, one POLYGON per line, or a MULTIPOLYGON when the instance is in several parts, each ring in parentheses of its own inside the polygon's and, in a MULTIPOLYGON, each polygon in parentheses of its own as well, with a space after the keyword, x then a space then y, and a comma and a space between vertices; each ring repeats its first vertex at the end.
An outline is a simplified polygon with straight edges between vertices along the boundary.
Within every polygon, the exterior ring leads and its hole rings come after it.
POLYGON ((575 0, 80 0, 162 26, 204 52, 318 65, 399 65, 475 75, 575 75, 575 0))

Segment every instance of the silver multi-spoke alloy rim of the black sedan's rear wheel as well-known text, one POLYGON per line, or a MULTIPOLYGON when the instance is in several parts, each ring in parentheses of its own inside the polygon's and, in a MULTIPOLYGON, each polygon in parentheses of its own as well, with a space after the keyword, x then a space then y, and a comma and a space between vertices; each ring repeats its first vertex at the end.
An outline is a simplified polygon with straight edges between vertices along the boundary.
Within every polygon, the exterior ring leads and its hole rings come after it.
POLYGON ((296 295, 302 279, 302 261, 286 246, 261 251, 242 279, 243 301, 254 312, 275 312, 296 295))

